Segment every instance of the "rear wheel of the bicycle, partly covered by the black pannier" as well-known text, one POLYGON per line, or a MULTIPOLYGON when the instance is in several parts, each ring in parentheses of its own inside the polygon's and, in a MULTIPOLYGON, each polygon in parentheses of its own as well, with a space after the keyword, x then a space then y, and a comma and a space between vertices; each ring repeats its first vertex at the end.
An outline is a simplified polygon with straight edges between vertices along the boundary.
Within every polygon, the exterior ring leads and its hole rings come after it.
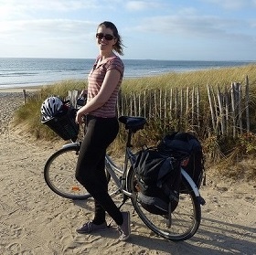
POLYGON ((180 194, 178 206, 172 212, 171 225, 168 227, 168 220, 164 216, 149 213, 142 207, 137 199, 135 171, 133 168, 129 171, 127 187, 133 194, 131 199, 136 213, 148 228, 164 239, 172 241, 190 239, 195 235, 200 225, 200 203, 184 176, 182 177, 182 184, 187 190, 180 194))

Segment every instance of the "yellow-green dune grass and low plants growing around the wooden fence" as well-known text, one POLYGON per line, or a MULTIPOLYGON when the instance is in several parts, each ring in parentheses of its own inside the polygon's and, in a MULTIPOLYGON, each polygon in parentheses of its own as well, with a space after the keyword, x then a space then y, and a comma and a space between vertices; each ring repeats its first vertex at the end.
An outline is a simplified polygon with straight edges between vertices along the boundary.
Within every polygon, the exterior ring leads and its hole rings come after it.
MULTIPOLYGON (((256 65, 248 65, 238 68, 209 69, 191 71, 186 73, 167 73, 164 75, 144 77, 136 79, 124 79, 122 85, 123 94, 133 94, 141 90, 170 90, 171 88, 193 88, 198 87, 201 93, 203 105, 208 104, 207 85, 211 85, 217 90, 230 86, 232 82, 244 84, 246 76, 250 81, 250 107, 252 116, 255 116, 256 104, 256 65)), ((37 139, 52 141, 60 139, 55 133, 40 122, 40 106, 50 95, 59 95, 61 98, 68 96, 69 90, 82 90, 87 86, 86 81, 67 80, 55 83, 51 86, 43 87, 38 93, 31 97, 27 104, 16 112, 16 123, 22 124, 27 132, 33 133, 37 139)), ((254 118, 254 117, 253 117, 254 118)), ((144 143, 155 144, 166 130, 159 130, 159 120, 150 120, 146 129, 135 135, 137 146, 144 143)), ((175 122, 175 121, 174 121, 175 122)), ((170 126, 176 123, 170 123, 170 126)), ((124 131, 121 129, 115 143, 112 144, 112 153, 120 152, 124 141, 124 131)), ((209 135, 201 140, 206 154, 208 164, 215 164, 220 175, 238 179, 241 176, 245 179, 256 178, 255 164, 241 165, 240 161, 248 162, 253 160, 256 153, 255 131, 251 133, 241 133, 237 137, 225 137, 209 135)))

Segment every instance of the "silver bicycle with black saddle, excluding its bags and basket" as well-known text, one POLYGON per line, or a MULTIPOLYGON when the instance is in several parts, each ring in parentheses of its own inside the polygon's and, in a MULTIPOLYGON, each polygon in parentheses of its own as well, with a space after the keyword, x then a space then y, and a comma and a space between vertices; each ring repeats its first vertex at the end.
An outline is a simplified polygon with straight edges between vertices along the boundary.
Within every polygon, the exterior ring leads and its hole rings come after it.
MULTIPOLYGON (((108 179, 112 179, 115 187, 110 194, 123 195, 123 206, 131 198, 133 208, 144 224, 164 239, 182 241, 193 237, 201 221, 201 205, 205 203, 200 196, 196 184, 187 172, 181 168, 182 185, 185 192, 180 193, 179 203, 171 218, 147 212, 140 204, 137 197, 136 173, 133 170, 135 152, 133 152, 133 134, 144 129, 144 117, 121 116, 119 118, 127 131, 127 141, 123 168, 117 166, 111 156, 105 156, 105 169, 108 179)), ((75 167, 80 152, 80 140, 65 144, 59 151, 52 154, 44 168, 44 178, 48 187, 60 197, 69 199, 87 199, 91 195, 75 179, 75 167)))

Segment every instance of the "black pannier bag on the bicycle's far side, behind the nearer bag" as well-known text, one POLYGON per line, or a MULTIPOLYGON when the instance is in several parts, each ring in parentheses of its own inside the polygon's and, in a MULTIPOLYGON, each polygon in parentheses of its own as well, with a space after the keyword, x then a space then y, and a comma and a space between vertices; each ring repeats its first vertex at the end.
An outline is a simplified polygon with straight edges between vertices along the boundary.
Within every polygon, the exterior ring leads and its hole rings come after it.
MULTIPOLYGON (((204 154, 202 145, 197 137, 192 133, 171 133, 165 135, 163 140, 157 146, 159 152, 174 157, 183 156, 189 157, 187 165, 182 168, 193 179, 197 188, 200 188, 202 180, 205 185, 205 168, 204 168, 204 154)), ((184 186, 180 187, 180 192, 183 192, 184 186)))

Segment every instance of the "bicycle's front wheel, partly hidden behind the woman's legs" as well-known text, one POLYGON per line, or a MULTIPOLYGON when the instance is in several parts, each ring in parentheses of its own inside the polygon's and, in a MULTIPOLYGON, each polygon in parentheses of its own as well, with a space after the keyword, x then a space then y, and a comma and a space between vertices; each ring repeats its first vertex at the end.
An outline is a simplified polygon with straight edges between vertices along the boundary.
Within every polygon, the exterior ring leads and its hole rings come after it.
POLYGON ((48 187, 60 197, 86 199, 91 197, 76 180, 75 171, 79 146, 64 147, 52 154, 44 168, 44 178, 48 187))

